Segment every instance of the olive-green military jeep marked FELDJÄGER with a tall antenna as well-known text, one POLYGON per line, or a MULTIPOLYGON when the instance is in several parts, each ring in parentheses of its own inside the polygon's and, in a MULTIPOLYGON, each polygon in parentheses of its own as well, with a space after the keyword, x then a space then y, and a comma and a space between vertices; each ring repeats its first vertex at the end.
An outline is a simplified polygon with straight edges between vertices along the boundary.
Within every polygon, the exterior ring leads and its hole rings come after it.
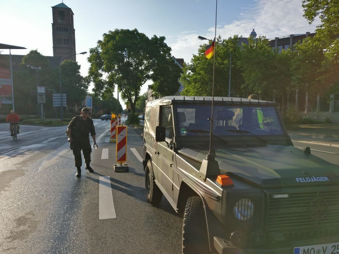
POLYGON ((295 148, 274 102, 211 110, 212 97, 146 105, 147 199, 183 214, 182 253, 339 253, 339 167, 295 148))

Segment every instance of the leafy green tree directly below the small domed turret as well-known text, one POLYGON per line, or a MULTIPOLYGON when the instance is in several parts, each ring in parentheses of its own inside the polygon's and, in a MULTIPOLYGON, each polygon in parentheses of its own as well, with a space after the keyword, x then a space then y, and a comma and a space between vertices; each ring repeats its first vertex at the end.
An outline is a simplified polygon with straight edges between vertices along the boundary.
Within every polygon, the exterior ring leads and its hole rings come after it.
POLYGON ((243 47, 240 61, 245 80, 243 92, 247 96, 257 94, 263 100, 273 100, 276 96, 284 114, 287 94, 293 90, 291 63, 294 52, 283 50, 278 54, 264 36, 248 38, 248 45, 243 44, 243 47))

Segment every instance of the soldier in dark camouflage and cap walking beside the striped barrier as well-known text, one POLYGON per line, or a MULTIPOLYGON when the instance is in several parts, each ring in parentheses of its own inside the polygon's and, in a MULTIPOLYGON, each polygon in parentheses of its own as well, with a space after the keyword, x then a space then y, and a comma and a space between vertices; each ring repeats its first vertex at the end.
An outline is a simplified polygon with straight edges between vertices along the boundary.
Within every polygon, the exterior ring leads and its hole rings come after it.
POLYGON ((95 127, 93 120, 88 117, 89 109, 84 107, 81 110, 81 115, 75 116, 67 127, 68 142, 71 143, 71 149, 74 154, 75 166, 77 167, 77 173, 75 176, 81 175, 81 150, 85 159, 85 169, 93 173, 94 170, 89 166, 91 162, 92 147, 89 143, 89 133, 91 133, 93 139, 93 145, 96 145, 95 141, 95 127))

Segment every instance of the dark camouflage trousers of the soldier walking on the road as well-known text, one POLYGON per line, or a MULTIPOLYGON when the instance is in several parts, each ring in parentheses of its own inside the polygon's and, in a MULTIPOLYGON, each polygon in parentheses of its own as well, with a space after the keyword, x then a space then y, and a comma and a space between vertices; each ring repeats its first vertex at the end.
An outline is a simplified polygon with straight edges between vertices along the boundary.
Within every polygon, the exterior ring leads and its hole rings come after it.
POLYGON ((75 162, 74 166, 81 167, 82 165, 81 150, 84 155, 85 163, 91 162, 92 147, 91 147, 91 144, 89 143, 88 136, 71 142, 71 146, 73 147, 73 155, 74 155, 74 162, 75 162))

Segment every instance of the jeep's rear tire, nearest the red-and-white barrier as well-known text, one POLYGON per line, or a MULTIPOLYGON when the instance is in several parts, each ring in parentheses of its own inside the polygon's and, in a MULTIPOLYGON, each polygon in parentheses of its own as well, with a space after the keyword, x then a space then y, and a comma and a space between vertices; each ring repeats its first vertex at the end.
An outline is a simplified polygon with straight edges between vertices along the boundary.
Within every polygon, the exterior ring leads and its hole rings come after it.
POLYGON ((162 192, 155 183, 155 177, 151 160, 147 161, 145 169, 145 187, 147 192, 147 200, 152 205, 159 204, 162 198, 162 192))

